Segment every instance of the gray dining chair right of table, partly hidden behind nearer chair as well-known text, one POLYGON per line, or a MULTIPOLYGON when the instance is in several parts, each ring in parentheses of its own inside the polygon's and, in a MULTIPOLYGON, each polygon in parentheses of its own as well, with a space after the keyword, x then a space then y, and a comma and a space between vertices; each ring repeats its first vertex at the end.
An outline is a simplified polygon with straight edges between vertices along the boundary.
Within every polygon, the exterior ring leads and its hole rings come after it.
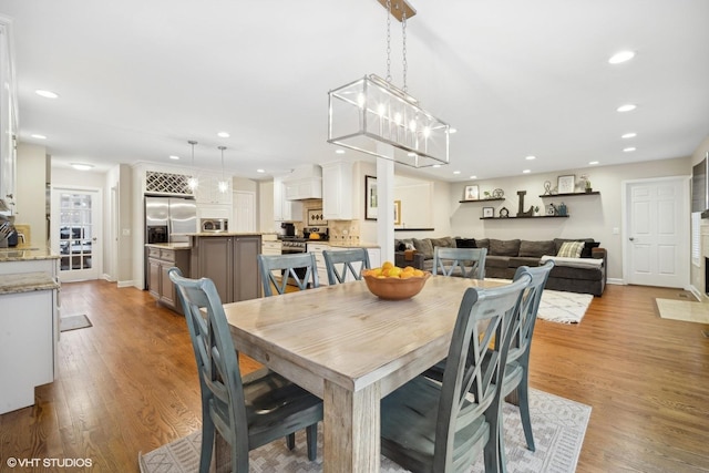
MULTIPOLYGON (((540 267, 520 266, 515 271, 514 279, 520 279, 524 275, 532 277, 530 286, 525 290, 520 310, 515 319, 512 320, 510 329, 510 352, 507 354, 507 367, 502 383, 502 397, 506 398, 520 407, 522 418, 522 429, 527 443, 527 449, 534 452, 534 435, 532 432, 532 419, 530 414, 530 349, 532 347, 532 336, 542 301, 542 294, 554 267, 554 261, 549 260, 540 267)), ((500 432, 500 454, 504 471, 505 448, 504 432, 500 432)))

